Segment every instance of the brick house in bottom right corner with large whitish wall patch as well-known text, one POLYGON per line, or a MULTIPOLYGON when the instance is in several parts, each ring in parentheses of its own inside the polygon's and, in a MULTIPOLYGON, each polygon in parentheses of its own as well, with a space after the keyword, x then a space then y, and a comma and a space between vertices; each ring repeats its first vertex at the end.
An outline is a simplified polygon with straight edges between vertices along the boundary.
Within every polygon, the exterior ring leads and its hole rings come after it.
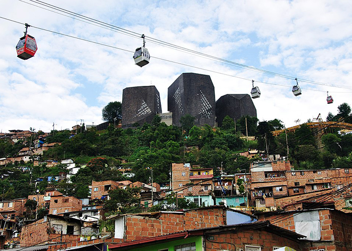
POLYGON ((352 250, 352 216, 339 210, 320 208, 299 211, 257 213, 259 221, 306 235, 303 251, 352 250))

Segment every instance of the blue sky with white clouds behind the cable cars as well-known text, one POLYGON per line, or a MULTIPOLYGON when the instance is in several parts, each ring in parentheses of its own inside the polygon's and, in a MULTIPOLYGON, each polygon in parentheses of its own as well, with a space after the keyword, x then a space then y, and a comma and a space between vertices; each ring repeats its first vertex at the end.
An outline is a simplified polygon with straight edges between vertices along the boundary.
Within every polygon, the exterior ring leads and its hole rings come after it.
POLYGON ((122 90, 131 86, 155 85, 162 112, 167 112, 167 88, 185 72, 210 75, 216 100, 225 94, 250 94, 254 80, 261 91, 253 99, 258 119, 278 118, 286 127, 319 113, 325 119, 328 112, 337 114, 341 103, 352 104, 351 1, 44 2, 138 36, 63 16, 36 0, 0 0, 3 133, 30 128, 50 132, 53 124, 55 130, 71 129, 81 120, 99 124, 103 107, 122 101, 122 90), (15 49, 24 23, 33 26, 28 34, 38 45, 28 60, 19 59, 15 49), (141 34, 151 55, 142 68, 132 59, 142 46, 141 34), (293 79, 196 56, 148 38, 293 79), (296 77, 302 88, 299 96, 292 93, 296 77), (326 91, 332 104, 326 102, 326 91))

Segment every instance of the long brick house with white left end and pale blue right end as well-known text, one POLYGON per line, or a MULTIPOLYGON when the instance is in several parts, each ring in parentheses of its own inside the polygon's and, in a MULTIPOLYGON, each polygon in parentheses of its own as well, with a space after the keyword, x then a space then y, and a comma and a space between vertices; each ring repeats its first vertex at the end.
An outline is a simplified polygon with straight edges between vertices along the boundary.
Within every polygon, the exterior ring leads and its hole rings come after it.
POLYGON ((123 241, 170 234, 188 229, 254 222, 252 215, 224 206, 210 206, 178 212, 147 212, 119 215, 115 219, 115 238, 123 241))

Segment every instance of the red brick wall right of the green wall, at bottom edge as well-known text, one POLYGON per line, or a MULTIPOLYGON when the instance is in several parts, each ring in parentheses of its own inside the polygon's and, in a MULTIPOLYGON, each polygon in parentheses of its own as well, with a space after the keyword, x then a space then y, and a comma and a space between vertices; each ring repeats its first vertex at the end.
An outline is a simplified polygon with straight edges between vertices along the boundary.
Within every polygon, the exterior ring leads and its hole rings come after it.
POLYGON ((245 230, 237 233, 209 235, 214 236, 214 240, 210 241, 206 239, 206 251, 236 250, 237 248, 245 250, 246 245, 260 246, 262 251, 272 251, 274 246, 290 246, 297 251, 302 250, 302 247, 298 242, 265 230, 245 230), (212 241, 219 243, 214 243, 212 241))

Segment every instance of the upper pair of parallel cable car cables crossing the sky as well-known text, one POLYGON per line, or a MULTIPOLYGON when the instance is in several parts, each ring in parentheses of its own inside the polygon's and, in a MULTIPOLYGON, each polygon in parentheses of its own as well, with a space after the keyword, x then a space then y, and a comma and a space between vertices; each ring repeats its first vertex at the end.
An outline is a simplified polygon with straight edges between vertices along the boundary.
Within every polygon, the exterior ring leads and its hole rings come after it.
MULTIPOLYGON (((26 3, 23 0, 19 0, 19 1, 21 1, 23 3, 26 3)), ((120 32, 123 32, 123 33, 126 33, 126 34, 130 34, 130 35, 134 34, 134 36, 136 36, 136 37, 140 37, 141 36, 141 34, 138 34, 136 32, 133 32, 133 31, 130 31, 130 30, 118 27, 118 26, 114 26, 114 25, 108 24, 108 23, 99 21, 97 19, 89 18, 89 17, 83 16, 83 15, 80 15, 78 13, 71 12, 71 11, 65 10, 63 8, 59 8, 57 6, 47 4, 47 3, 39 1, 39 0, 29 0, 29 1, 31 1, 33 3, 37 3, 37 4, 40 4, 40 5, 43 5, 43 6, 46 6, 46 7, 49 7, 49 8, 52 8, 52 9, 57 10, 57 11, 64 12, 66 14, 69 14, 69 15, 72 15, 72 16, 75 16, 75 17, 79 17, 79 18, 84 19, 84 20, 89 20, 90 22, 99 23, 101 25, 104 24, 105 26, 108 26, 109 28, 114 27, 114 28, 118 29, 120 32)), ((29 3, 27 3, 27 4, 29 4, 29 3)), ((78 20, 78 21, 81 21, 81 20, 78 20)), ((295 80, 295 77, 292 77, 292 76, 289 76, 289 75, 280 74, 280 73, 276 73, 276 72, 272 72, 272 71, 268 71, 268 70, 263 70, 263 69, 255 68, 255 67, 252 67, 252 66, 247 66, 247 65, 244 65, 244 64, 239 64, 239 63, 236 63, 236 62, 232 62, 232 61, 225 60, 225 59, 222 59, 222 58, 218 58, 218 57, 215 57, 215 56, 211 56, 211 55, 208 55, 208 54, 197 52, 197 51, 194 51, 194 50, 182 47, 182 46, 178 46, 178 45, 174 45, 174 44, 171 44, 171 43, 167 43, 167 42, 164 42, 162 40, 154 39, 152 37, 146 37, 146 38, 149 38, 147 40, 149 40, 149 42, 151 42, 151 43, 152 43, 152 41, 155 41, 156 43, 162 44, 164 46, 168 46, 170 48, 178 48, 178 49, 184 50, 186 52, 192 52, 192 53, 194 53, 196 55, 202 55, 202 56, 205 56, 207 58, 212 58, 212 59, 215 59, 215 60, 218 60, 218 61, 221 61, 221 62, 227 62, 227 63, 229 63, 231 65, 235 65, 235 66, 240 67, 240 68, 249 69, 249 70, 256 71, 256 72, 261 72, 261 73, 265 73, 265 74, 269 74, 269 75, 273 75, 273 76, 279 76, 279 77, 295 80)), ((300 81, 301 82, 306 82, 306 83, 311 83, 311 84, 331 86, 331 87, 347 87, 347 88, 349 87, 349 86, 345 86, 345 85, 333 85, 333 84, 329 84, 329 83, 318 82, 318 81, 307 80, 307 79, 300 79, 300 81)))

